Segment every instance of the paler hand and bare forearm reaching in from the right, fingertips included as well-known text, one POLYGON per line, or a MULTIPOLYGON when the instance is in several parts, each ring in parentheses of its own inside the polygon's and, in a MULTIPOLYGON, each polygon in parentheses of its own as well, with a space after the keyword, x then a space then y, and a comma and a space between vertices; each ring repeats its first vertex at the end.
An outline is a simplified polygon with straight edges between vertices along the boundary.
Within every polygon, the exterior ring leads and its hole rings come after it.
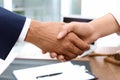
MULTIPOLYGON (((90 22, 71 22, 63 25, 57 38, 59 40, 64 39, 64 37, 71 32, 77 34, 79 38, 88 44, 112 33, 119 34, 120 14, 112 12, 90 22)), ((57 55, 56 53, 51 53, 51 57, 59 57, 60 60, 64 60, 63 55, 57 55)))

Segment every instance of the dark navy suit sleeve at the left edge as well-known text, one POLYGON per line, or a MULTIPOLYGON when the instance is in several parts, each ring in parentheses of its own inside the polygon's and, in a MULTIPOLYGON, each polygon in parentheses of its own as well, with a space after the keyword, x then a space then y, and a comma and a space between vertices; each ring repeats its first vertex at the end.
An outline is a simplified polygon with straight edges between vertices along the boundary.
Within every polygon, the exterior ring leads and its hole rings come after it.
POLYGON ((0 7, 0 58, 6 59, 16 43, 26 18, 0 7))

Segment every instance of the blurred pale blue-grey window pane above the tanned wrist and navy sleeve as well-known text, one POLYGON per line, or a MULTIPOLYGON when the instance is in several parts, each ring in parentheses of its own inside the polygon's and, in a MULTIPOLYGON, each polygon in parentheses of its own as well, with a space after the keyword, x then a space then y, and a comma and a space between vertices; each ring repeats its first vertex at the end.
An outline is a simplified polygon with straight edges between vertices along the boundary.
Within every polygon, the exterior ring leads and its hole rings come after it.
POLYGON ((40 21, 60 21, 60 0, 13 0, 13 11, 40 21))

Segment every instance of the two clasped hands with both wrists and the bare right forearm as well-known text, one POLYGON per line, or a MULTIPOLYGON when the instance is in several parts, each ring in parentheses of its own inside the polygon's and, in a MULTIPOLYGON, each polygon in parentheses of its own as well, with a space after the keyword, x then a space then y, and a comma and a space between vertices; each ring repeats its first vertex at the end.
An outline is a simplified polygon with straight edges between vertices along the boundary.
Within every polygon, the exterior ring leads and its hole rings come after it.
POLYGON ((97 39, 120 31, 112 14, 90 22, 38 22, 31 21, 25 41, 50 52, 52 58, 71 60, 89 49, 97 39), (107 25, 107 26, 106 26, 107 25))

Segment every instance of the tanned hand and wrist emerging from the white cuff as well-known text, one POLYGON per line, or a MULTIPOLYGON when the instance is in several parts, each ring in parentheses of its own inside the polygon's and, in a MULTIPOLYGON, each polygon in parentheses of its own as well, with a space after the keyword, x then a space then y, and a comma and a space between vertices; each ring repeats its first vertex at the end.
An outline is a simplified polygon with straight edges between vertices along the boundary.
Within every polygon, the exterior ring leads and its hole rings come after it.
POLYGON ((58 40, 56 36, 64 24, 32 20, 25 41, 33 43, 44 52, 55 52, 57 55, 63 55, 65 60, 71 60, 89 49, 89 45, 74 33, 58 40))

